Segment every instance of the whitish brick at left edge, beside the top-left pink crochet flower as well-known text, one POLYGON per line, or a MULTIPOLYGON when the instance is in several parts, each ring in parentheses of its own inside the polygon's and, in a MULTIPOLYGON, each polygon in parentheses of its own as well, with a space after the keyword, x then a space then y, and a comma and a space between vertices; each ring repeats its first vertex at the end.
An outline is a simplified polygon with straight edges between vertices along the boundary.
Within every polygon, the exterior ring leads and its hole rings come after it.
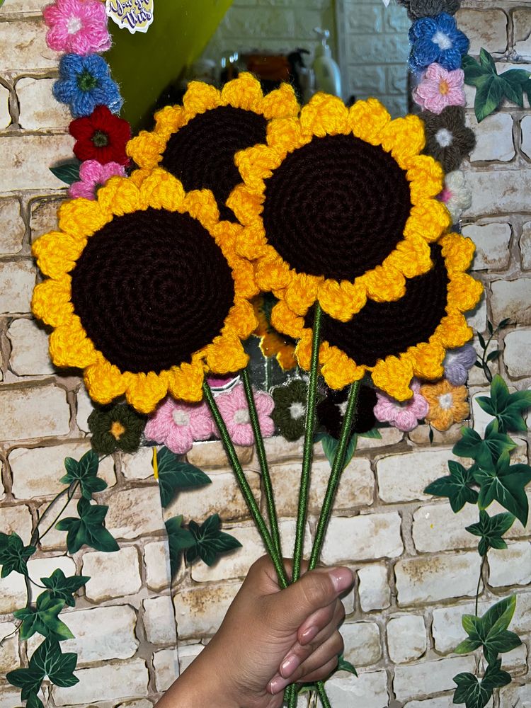
POLYGON ((2 53, 0 72, 30 69, 55 69, 57 53, 46 45, 46 28, 42 18, 28 21, 0 22, 2 53))

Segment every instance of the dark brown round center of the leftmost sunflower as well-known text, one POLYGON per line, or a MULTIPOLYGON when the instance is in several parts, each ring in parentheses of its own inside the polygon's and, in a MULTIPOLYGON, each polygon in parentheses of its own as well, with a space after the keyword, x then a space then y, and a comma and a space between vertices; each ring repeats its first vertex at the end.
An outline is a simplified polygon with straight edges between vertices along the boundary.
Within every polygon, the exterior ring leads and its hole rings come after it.
POLYGON ((149 208, 105 224, 72 270, 72 302, 87 336, 122 371, 190 362, 234 303, 232 271, 200 222, 149 208))

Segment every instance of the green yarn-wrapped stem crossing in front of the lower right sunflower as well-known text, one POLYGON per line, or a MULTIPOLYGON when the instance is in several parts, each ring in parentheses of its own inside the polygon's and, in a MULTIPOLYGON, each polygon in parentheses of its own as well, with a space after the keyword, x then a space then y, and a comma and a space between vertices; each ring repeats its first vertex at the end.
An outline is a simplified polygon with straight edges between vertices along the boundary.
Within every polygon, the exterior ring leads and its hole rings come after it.
POLYGON ((302 472, 299 487, 299 507, 297 510, 297 527, 295 530, 295 548, 293 550, 292 583, 300 576, 302 548, 304 546, 304 525, 308 509, 308 491, 312 457, 314 452, 315 404, 317 397, 317 375, 319 373, 319 340, 321 338, 321 306, 314 305, 314 331, 312 336, 312 360, 308 396, 306 401, 306 420, 304 426, 304 447, 302 450, 302 472))

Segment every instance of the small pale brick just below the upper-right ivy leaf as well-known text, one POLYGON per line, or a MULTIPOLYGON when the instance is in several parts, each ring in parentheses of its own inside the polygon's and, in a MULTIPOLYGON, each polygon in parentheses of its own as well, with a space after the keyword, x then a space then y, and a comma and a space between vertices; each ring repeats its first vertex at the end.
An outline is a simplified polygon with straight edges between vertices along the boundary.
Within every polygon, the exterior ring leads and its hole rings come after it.
POLYGON ((476 147, 470 161, 498 160, 508 162, 515 156, 513 144, 513 117, 510 113, 492 113, 477 122, 474 115, 467 115, 467 125, 474 130, 476 147))

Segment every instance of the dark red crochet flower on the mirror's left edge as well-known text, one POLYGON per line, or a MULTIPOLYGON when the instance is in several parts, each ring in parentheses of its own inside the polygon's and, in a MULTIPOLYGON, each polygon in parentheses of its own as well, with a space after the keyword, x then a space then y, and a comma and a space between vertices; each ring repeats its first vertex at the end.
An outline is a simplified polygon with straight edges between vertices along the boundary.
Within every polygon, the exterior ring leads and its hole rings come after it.
POLYGON ((125 165, 129 161, 125 145, 131 137, 131 127, 106 105, 97 105, 86 118, 72 120, 69 131, 76 139, 74 154, 78 159, 97 160, 102 165, 108 162, 125 165))

